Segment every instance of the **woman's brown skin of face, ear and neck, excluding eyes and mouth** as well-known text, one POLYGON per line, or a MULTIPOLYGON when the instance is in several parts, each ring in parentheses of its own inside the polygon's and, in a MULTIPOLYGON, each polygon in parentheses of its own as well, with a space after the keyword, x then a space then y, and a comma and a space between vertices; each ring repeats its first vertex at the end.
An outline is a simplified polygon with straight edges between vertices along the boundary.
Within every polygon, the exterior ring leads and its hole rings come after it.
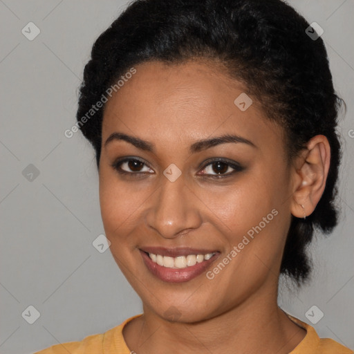
MULTIPOLYGON (((106 103, 99 167, 111 253, 144 310, 124 327, 127 346, 138 354, 217 354, 235 348, 238 353, 289 353, 306 330, 277 306, 281 257, 291 215, 304 217, 304 210, 309 215, 322 196, 328 140, 315 136, 289 165, 283 129, 265 118, 255 97, 246 111, 237 108, 234 100, 247 91, 221 68, 198 60, 169 66, 147 62, 136 70, 106 103), (104 145, 114 132, 147 140, 155 149, 143 151, 124 140, 104 145), (228 142, 189 152, 197 140, 225 133, 255 147, 228 142), (127 156, 147 165, 121 168, 145 174, 131 178, 112 167, 127 156), (239 162, 243 170, 212 178, 218 169, 205 163, 210 158, 239 162), (163 174, 171 163, 182 172, 174 182, 163 174), (210 270, 272 209, 277 216, 212 280, 204 272, 185 283, 166 283, 142 261, 139 248, 147 246, 218 250, 210 270), (174 321, 167 317, 171 310, 174 321)), ((222 174, 234 171, 222 166, 222 174)))

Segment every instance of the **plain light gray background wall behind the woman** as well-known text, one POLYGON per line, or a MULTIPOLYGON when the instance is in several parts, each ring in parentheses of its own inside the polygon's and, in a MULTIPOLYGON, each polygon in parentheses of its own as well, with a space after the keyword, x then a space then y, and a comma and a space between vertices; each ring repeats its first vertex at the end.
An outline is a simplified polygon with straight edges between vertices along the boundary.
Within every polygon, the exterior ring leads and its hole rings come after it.
MULTIPOLYGON (((64 136, 75 122, 77 87, 93 41, 126 3, 0 0, 0 353, 80 340, 142 310, 109 250, 92 245, 104 233, 93 150, 80 132, 64 136), (41 30, 32 41, 21 33, 30 21, 41 30), (30 164, 39 176, 31 177, 30 164), (33 311, 21 315, 30 305, 40 313, 34 324, 25 320, 33 311)), ((319 335, 354 348, 354 1, 290 4, 324 28, 335 88, 348 111, 340 117, 341 221, 311 247, 310 285, 295 291, 283 284, 279 303, 308 323, 305 314, 316 305, 324 313, 313 325, 319 335)))

